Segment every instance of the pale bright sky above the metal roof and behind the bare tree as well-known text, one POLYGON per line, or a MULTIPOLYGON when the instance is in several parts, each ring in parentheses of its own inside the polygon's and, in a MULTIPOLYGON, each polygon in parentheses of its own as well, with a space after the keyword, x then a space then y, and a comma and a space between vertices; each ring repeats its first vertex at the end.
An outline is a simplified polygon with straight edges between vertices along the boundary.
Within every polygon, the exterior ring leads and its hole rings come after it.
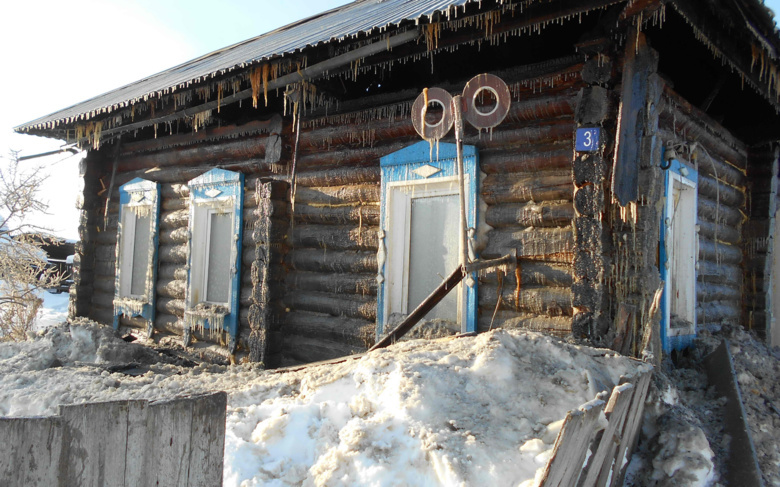
MULTIPOLYGON (((0 164, 62 142, 13 127, 348 0, 37 0, 0 6, 0 164)), ((780 0, 766 0, 780 12, 780 0)), ((76 239, 79 155, 24 162, 48 176, 49 215, 29 223, 76 239)))

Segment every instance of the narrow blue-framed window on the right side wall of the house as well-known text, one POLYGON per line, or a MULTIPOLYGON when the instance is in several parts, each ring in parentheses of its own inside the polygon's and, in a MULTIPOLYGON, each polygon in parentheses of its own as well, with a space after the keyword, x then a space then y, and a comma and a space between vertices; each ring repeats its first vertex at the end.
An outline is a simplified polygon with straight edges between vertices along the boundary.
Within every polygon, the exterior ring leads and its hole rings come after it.
POLYGON ((697 180, 698 173, 676 159, 664 175, 661 337, 667 352, 687 347, 696 335, 697 180))

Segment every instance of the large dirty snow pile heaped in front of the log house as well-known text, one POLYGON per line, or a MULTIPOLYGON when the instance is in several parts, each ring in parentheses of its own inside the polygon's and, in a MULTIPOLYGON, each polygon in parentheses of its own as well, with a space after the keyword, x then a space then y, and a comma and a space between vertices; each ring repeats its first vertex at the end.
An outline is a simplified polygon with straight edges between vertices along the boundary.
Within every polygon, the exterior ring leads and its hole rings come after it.
POLYGON ((647 367, 608 350, 502 330, 403 342, 283 373, 160 364, 129 376, 82 363, 116 354, 151 364, 112 339, 71 326, 0 345, 0 416, 225 390, 224 480, 242 486, 532 484, 566 412, 647 367), (40 355, 73 365, 46 368, 40 355))

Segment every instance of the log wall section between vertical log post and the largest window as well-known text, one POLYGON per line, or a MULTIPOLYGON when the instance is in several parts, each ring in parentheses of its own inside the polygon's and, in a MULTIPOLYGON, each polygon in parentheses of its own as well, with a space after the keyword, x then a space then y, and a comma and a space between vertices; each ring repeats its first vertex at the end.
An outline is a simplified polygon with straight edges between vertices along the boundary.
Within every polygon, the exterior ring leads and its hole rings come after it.
POLYGON ((365 146, 350 142, 356 140, 350 134, 360 130, 335 124, 300 135, 284 297, 290 310, 283 349, 288 361, 350 355, 373 343, 378 158, 395 150, 398 140, 388 137, 365 146))

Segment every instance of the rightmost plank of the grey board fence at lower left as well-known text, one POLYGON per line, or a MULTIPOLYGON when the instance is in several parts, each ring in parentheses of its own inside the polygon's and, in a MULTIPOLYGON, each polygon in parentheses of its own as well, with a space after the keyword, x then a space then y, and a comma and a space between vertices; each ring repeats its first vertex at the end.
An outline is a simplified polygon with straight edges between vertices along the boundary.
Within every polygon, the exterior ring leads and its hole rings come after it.
POLYGON ((217 392, 194 397, 191 401, 193 404, 188 485, 222 485, 227 394, 217 392))

